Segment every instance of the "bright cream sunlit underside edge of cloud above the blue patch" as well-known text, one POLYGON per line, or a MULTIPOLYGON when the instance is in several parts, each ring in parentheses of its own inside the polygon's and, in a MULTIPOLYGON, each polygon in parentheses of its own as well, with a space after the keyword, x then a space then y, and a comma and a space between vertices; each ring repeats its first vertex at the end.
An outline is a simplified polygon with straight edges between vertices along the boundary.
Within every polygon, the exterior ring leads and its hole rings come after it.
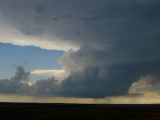
POLYGON ((77 50, 79 47, 68 40, 51 37, 43 34, 41 36, 29 36, 23 34, 20 30, 6 24, 3 20, 0 21, 0 42, 11 43, 20 46, 35 46, 48 50, 77 50))

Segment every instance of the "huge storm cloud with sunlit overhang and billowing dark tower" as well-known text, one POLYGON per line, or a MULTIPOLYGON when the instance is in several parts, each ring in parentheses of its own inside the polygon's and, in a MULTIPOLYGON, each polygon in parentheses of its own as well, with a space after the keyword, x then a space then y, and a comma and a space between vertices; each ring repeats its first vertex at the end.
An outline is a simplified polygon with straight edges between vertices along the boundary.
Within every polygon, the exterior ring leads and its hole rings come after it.
POLYGON ((160 70, 159 5, 158 0, 0 0, 0 42, 65 51, 59 63, 70 75, 61 85, 37 82, 44 94, 126 95, 141 76, 160 70))

